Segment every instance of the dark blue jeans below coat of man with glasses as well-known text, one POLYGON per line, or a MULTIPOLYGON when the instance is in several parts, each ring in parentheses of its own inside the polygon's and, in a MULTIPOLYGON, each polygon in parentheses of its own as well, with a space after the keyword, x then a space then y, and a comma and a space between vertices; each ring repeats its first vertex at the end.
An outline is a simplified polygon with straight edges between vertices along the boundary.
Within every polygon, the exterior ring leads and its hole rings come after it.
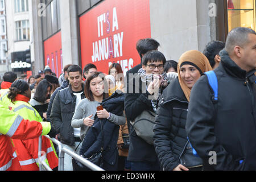
POLYGON ((131 162, 131 171, 160 171, 160 165, 156 162, 131 162))

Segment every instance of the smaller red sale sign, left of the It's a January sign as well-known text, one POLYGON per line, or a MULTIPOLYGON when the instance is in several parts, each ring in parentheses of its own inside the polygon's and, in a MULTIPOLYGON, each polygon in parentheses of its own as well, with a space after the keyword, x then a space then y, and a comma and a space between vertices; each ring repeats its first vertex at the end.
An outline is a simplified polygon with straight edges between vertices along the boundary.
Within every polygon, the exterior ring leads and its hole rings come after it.
POLYGON ((57 77, 63 72, 61 32, 44 41, 44 65, 48 65, 57 77))

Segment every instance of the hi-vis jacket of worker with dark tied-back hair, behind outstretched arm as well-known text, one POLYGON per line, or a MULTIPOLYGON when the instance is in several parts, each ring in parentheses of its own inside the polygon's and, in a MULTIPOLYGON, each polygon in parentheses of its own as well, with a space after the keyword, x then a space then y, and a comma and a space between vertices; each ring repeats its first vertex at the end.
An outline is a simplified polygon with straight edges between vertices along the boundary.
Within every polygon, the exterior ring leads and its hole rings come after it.
MULTIPOLYGON (((24 119, 30 121, 43 122, 38 111, 27 103, 29 98, 18 94, 15 98, 15 102, 9 105, 9 109, 19 114, 24 119), (27 99, 27 100, 26 100, 27 99)), ((38 144, 39 138, 20 140, 13 139, 14 147, 16 148, 16 154, 19 159, 20 166, 23 171, 39 171, 38 163, 38 144)), ((53 147, 53 143, 46 137, 42 137, 42 152, 46 155, 45 162, 53 169, 58 166, 59 159, 53 147)))

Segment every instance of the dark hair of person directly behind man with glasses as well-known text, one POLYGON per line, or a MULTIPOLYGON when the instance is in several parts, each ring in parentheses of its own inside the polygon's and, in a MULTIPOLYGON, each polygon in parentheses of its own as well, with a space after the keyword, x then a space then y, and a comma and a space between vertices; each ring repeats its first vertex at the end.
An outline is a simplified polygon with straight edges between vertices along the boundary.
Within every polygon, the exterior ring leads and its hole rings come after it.
POLYGON ((137 51, 139 53, 139 56, 141 56, 141 58, 142 58, 142 55, 144 55, 148 51, 158 49, 159 46, 160 44, 156 40, 151 38, 140 39, 136 44, 137 51))

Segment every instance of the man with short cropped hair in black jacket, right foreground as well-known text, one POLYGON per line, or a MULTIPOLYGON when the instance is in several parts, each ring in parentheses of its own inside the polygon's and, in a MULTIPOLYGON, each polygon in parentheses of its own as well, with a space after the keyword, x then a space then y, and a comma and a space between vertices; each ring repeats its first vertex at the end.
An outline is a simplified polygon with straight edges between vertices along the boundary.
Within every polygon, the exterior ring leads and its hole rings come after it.
POLYGON ((214 70, 218 101, 207 76, 193 86, 186 131, 205 170, 256 170, 256 33, 229 32, 214 70))

